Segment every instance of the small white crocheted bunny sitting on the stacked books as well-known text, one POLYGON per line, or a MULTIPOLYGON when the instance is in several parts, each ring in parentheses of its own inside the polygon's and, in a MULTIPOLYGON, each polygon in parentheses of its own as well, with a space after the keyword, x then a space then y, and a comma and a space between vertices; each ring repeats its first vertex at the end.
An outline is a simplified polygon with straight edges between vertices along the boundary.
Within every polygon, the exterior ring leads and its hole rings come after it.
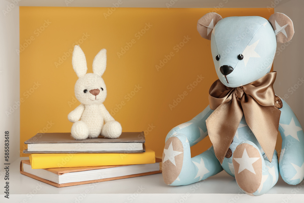
POLYGON ((77 140, 97 138, 100 134, 106 138, 118 138, 121 135, 121 125, 102 104, 107 96, 105 82, 101 78, 106 61, 106 50, 102 49, 94 58, 93 73, 86 74, 85 54, 78 45, 74 47, 72 65, 79 78, 74 90, 81 104, 67 118, 74 123, 71 134, 77 140))

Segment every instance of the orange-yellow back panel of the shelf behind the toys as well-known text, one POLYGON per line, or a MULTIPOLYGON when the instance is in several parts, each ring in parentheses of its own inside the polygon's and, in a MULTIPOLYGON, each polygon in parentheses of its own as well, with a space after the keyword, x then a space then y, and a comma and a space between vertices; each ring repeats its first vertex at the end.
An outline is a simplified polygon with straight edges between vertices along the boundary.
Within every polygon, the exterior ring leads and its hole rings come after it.
MULTIPOLYGON (((168 131, 208 105, 217 75, 210 41, 200 37, 196 22, 212 10, 118 8, 105 16, 108 8, 20 7, 21 152, 24 141, 39 131, 70 131, 67 114, 80 104, 71 64, 73 46, 79 44, 88 72, 98 51, 107 49, 105 107, 123 131, 145 131, 146 144, 161 156, 168 131)), ((268 19, 273 12, 218 10, 223 18, 268 19)), ((192 156, 210 145, 207 137, 192 147, 192 156)))

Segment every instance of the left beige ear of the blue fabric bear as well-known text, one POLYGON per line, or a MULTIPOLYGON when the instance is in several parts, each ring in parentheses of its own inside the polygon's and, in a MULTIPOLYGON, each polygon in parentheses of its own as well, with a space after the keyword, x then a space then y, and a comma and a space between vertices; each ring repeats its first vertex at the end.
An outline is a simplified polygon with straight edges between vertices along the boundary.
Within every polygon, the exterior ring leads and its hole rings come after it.
POLYGON ((223 19, 222 16, 215 12, 207 13, 197 21, 197 31, 203 38, 211 40, 212 30, 221 19, 223 19))

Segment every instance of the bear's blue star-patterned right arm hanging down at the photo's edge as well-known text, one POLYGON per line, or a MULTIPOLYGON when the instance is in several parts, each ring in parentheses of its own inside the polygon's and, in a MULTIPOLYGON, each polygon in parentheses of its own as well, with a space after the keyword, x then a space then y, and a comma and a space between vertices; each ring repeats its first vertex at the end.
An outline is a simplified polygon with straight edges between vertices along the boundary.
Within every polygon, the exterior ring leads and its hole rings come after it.
POLYGON ((304 132, 292 109, 284 100, 282 104, 279 124, 282 137, 279 170, 286 183, 296 185, 302 182, 304 174, 304 132))

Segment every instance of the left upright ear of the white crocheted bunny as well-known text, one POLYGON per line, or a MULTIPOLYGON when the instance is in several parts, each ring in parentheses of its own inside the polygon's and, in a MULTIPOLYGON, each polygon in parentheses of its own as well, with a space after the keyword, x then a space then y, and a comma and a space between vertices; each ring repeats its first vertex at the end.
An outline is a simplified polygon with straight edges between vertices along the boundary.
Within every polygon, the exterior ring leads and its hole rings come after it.
POLYGON ((78 78, 84 76, 87 73, 87 61, 85 60, 85 53, 78 45, 75 45, 72 56, 73 69, 76 72, 78 78))

